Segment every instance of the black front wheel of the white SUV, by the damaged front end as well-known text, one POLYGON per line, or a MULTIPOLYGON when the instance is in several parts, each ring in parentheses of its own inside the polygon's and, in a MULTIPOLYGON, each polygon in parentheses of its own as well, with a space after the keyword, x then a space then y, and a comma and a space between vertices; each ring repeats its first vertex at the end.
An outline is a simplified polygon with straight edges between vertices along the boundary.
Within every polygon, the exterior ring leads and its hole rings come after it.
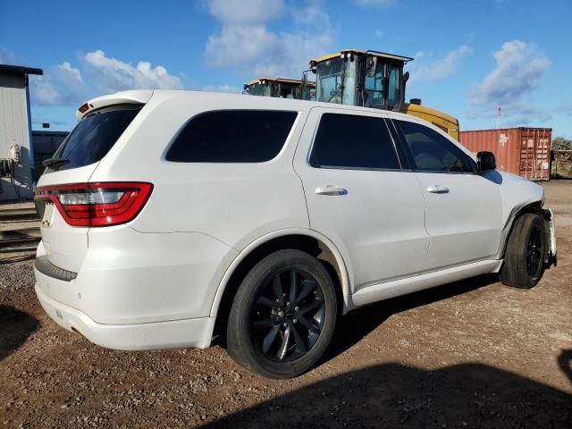
POLYGON ((526 213, 517 218, 501 268, 501 282, 508 286, 531 289, 543 277, 546 234, 539 214, 526 213))

